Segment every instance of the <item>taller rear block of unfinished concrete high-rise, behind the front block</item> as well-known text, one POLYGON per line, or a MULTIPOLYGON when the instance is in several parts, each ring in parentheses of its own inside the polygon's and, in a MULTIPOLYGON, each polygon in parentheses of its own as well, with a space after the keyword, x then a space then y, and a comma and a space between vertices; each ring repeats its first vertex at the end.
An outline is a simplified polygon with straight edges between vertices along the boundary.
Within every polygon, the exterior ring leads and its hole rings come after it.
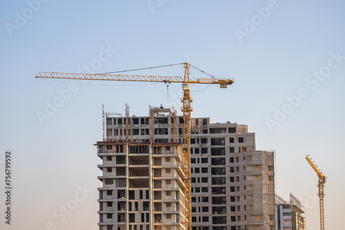
MULTIPOLYGON (((149 116, 108 116, 106 139, 183 142, 182 116, 152 108, 149 116), (127 125, 126 125, 127 123, 127 125)), ((274 153, 257 151, 246 125, 192 118, 193 230, 275 229, 274 153)))

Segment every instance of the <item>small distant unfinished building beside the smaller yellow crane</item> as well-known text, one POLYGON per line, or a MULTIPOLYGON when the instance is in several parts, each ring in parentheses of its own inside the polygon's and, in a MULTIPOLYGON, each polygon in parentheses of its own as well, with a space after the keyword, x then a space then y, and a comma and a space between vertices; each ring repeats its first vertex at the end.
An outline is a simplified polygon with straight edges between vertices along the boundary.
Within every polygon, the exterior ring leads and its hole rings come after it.
POLYGON ((276 200, 276 230, 306 230, 306 218, 301 202, 290 194, 290 202, 282 197, 275 196, 276 200))

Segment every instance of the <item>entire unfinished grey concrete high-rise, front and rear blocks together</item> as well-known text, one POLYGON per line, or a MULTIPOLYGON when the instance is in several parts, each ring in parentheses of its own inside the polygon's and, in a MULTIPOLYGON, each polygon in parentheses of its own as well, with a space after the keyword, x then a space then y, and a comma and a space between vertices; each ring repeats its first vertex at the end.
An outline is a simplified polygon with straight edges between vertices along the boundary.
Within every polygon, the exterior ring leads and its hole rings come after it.
MULTIPOLYGON (((177 150, 183 123, 162 107, 151 108, 149 116, 106 114, 105 140, 97 142, 100 229, 184 229, 183 156, 177 150), (120 144, 126 150, 111 149, 120 144), (147 146, 145 163, 135 159, 144 155, 135 155, 132 146, 147 146)), ((190 136, 193 230, 275 229, 273 151, 256 150, 246 125, 210 118, 192 118, 190 136)))

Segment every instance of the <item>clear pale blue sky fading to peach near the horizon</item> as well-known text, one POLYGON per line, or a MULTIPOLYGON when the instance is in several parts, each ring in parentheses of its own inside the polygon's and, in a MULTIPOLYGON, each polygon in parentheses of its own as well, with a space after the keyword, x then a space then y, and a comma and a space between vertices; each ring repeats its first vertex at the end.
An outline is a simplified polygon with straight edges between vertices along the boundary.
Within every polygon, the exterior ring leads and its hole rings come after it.
POLYGON ((225 90, 194 86, 193 116, 246 124, 257 149, 275 149, 277 194, 297 196, 307 229, 318 229, 317 177, 304 159, 311 154, 328 176, 326 229, 343 229, 344 12, 340 0, 1 1, 1 210, 4 155, 14 154, 12 226, 1 216, 1 229, 98 229, 101 160, 93 144, 102 138, 101 104, 124 114, 128 103, 137 115, 147 115, 148 105, 180 107, 179 84, 167 99, 160 83, 69 85, 35 79, 37 72, 181 62, 235 79, 225 90))

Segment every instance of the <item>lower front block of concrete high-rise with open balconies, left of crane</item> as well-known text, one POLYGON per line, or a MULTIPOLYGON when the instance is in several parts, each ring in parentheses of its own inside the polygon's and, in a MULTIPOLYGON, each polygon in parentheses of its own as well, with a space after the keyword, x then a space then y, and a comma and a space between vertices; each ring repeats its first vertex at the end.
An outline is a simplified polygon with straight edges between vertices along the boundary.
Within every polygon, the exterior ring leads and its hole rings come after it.
POLYGON ((100 230, 182 230, 181 145, 100 141, 100 230))

